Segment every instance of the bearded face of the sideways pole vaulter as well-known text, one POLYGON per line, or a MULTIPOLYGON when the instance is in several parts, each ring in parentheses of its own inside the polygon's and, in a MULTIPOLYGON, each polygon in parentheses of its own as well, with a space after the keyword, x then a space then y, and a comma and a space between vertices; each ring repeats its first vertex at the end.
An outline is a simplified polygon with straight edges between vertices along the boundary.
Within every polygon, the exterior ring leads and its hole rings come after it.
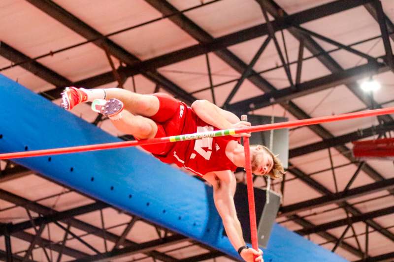
POLYGON ((251 157, 252 172, 255 175, 267 175, 274 166, 272 156, 260 145, 251 147, 251 157))

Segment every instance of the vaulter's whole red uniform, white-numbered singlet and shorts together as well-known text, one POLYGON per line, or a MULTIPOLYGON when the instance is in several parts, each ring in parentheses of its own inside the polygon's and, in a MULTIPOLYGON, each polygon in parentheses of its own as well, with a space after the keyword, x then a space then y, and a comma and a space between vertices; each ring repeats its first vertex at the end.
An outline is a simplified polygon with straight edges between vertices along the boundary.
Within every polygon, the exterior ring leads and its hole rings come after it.
MULTIPOLYGON (((218 130, 202 121, 185 103, 168 95, 154 95, 160 100, 159 112, 151 117, 159 128, 156 137, 218 130)), ((226 146, 232 140, 238 138, 225 136, 142 147, 164 163, 175 163, 203 176, 212 171, 235 171, 236 166, 226 156, 226 146)))

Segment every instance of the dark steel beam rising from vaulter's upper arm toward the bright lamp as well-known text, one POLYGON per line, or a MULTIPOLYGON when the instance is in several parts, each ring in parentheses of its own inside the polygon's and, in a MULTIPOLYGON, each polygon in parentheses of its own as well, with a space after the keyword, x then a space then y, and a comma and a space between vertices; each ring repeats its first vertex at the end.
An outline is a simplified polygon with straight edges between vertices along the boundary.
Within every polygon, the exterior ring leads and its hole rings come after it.
POLYGON ((263 95, 245 99, 228 106, 229 110, 242 110, 245 112, 271 106, 277 103, 286 103, 297 97, 326 90, 339 85, 346 85, 358 79, 370 76, 371 71, 383 73, 390 70, 385 64, 368 63, 353 67, 340 72, 332 73, 297 85, 297 88, 286 87, 276 91, 271 91, 263 95))

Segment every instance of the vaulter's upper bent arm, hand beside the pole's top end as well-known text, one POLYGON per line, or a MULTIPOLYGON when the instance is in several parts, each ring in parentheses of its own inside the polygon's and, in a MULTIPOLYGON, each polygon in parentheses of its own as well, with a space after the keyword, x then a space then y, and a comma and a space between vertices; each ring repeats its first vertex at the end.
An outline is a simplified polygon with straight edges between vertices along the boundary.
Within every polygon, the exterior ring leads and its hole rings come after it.
MULTIPOLYGON (((192 104, 192 109, 201 120, 219 129, 250 126, 249 122, 240 121, 239 118, 231 112, 219 108, 208 100, 196 100, 192 104)), ((242 136, 250 136, 250 134, 242 134, 242 136)))

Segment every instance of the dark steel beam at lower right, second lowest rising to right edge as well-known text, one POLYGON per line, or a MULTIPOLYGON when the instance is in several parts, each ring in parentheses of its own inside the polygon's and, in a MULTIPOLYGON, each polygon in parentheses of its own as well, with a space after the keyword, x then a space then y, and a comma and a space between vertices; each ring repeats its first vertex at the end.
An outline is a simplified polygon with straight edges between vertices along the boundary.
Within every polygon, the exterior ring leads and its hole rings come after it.
POLYGON ((299 233, 301 235, 318 233, 318 232, 334 229, 337 227, 342 227, 342 226, 351 225, 351 224, 354 224, 357 222, 366 221, 366 220, 373 219, 376 217, 389 215, 392 213, 394 213, 394 206, 386 207, 383 209, 375 210, 375 211, 360 214, 360 215, 351 216, 349 218, 331 221, 331 222, 324 223, 324 224, 321 224, 321 225, 318 225, 315 227, 311 227, 311 228, 297 230, 296 233, 299 233))

